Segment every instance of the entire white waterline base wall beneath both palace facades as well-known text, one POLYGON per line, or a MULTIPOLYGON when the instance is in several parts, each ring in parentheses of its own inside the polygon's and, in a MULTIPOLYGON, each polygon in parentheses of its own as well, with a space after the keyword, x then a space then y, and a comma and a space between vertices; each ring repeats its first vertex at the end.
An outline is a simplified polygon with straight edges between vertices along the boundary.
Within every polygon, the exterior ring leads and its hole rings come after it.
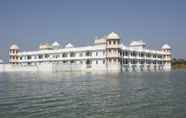
POLYGON ((171 65, 119 65, 119 64, 95 64, 90 67, 86 64, 52 64, 45 63, 38 66, 20 66, 11 64, 0 64, 0 72, 21 72, 21 71, 44 71, 44 72, 64 72, 64 71, 83 71, 83 72, 121 72, 121 71, 170 71, 171 65), (156 66, 156 69, 155 69, 156 66))

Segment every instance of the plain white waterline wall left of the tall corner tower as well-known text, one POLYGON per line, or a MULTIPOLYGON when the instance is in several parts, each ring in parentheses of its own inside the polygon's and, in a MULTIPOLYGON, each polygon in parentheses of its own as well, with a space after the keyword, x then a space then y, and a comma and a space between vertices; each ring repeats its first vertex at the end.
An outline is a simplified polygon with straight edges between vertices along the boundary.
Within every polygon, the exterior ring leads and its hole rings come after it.
POLYGON ((63 72, 63 71, 105 71, 105 64, 92 64, 87 67, 86 64, 52 64, 44 63, 37 66, 21 66, 11 64, 1 64, 0 72, 21 72, 21 71, 50 71, 50 72, 63 72))

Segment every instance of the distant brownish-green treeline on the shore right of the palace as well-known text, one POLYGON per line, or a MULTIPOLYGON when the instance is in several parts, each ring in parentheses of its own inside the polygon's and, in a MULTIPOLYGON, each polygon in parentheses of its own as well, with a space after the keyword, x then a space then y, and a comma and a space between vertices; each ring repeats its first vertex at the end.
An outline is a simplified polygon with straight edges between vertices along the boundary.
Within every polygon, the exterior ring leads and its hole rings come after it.
POLYGON ((186 59, 172 59, 173 68, 186 68, 186 59))

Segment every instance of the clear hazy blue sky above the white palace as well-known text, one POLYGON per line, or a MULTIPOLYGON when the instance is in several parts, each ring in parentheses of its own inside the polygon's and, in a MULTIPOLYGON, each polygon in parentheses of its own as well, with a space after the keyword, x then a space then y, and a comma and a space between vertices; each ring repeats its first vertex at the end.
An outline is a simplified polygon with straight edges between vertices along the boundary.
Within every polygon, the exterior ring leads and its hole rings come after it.
POLYGON ((114 31, 124 45, 143 40, 148 48, 172 47, 186 58, 185 0, 0 0, 0 59, 16 43, 21 51, 42 42, 91 45, 114 31))

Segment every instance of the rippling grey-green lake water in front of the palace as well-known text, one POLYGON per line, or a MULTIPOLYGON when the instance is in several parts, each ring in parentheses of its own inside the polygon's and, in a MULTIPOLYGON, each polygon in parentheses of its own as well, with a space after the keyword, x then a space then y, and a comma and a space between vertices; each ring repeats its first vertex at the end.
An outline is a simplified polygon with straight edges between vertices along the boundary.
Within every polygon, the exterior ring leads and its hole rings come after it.
POLYGON ((1 118, 186 118, 186 70, 0 73, 1 118))

